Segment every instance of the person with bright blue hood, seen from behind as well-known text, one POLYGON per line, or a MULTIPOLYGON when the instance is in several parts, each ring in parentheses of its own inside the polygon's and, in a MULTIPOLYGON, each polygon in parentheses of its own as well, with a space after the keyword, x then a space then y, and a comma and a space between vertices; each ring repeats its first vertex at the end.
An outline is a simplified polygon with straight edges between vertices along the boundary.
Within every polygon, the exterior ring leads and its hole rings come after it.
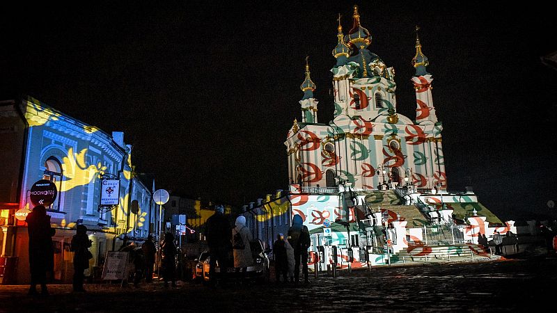
POLYGON ((309 238, 309 230, 303 224, 299 214, 292 218, 292 226, 288 230, 288 237, 290 237, 290 245, 294 248, 294 280, 299 282, 300 275, 300 262, 301 271, 304 274, 304 282, 307 284, 308 280, 308 248, 311 246, 311 239, 309 238))

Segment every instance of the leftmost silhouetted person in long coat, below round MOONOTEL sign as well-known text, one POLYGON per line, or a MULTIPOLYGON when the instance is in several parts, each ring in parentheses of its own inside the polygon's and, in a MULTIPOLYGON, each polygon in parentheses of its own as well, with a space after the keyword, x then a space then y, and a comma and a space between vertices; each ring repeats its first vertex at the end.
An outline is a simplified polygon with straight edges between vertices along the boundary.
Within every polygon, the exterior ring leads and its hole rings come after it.
POLYGON ((29 270, 31 271, 31 286, 29 295, 36 296, 37 284, 40 292, 48 296, 47 272, 54 269, 54 248, 52 236, 56 230, 50 226, 50 216, 43 205, 33 208, 27 215, 27 232, 29 233, 29 270))

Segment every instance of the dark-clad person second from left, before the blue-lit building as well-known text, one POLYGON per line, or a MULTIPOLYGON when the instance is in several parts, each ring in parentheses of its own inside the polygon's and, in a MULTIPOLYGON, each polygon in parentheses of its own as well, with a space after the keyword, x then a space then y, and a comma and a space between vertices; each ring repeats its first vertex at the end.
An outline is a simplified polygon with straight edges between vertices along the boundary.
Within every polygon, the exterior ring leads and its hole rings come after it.
POLYGON ((84 273, 89 268, 89 259, 93 258, 89 248, 91 240, 87 236, 87 227, 77 225, 75 234, 72 237, 72 251, 74 252, 74 280, 73 287, 75 292, 85 292, 83 288, 84 273))

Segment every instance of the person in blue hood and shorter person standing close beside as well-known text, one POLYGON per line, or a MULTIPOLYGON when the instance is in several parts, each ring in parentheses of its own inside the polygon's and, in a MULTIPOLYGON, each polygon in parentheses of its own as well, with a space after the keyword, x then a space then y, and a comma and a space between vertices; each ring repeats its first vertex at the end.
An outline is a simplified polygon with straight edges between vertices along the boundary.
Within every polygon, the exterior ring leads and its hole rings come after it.
POLYGON ((288 237, 278 234, 273 244, 275 280, 281 282, 299 282, 299 266, 308 283, 308 248, 311 246, 308 227, 303 225, 299 214, 292 218, 288 237))

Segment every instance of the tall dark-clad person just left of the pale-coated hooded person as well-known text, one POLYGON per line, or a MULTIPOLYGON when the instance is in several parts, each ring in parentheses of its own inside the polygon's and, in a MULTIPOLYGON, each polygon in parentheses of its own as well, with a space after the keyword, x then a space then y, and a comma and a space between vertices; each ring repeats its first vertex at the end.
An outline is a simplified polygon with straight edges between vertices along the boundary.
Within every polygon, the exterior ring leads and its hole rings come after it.
MULTIPOLYGON (((214 214, 207 218, 205 222, 205 238, 209 247, 209 280, 214 287, 217 284, 215 267, 217 262, 221 268, 221 273, 226 273, 228 267, 228 252, 230 251, 230 222, 224 216, 224 207, 218 204, 214 208, 214 214)), ((226 275, 221 276, 222 281, 226 281, 226 275)))

